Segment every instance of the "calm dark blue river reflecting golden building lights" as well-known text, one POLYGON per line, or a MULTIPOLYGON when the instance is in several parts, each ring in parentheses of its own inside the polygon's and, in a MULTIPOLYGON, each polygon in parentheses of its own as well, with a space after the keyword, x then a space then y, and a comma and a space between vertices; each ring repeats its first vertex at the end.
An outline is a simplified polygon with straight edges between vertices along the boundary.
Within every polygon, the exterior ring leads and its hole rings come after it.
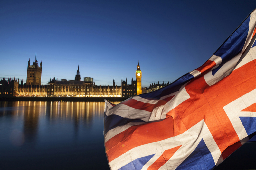
MULTIPOLYGON (((109 169, 104 106, 104 102, 0 102, 0 169, 109 169)), ((246 143, 216 169, 255 169, 255 155, 255 143, 246 143)))

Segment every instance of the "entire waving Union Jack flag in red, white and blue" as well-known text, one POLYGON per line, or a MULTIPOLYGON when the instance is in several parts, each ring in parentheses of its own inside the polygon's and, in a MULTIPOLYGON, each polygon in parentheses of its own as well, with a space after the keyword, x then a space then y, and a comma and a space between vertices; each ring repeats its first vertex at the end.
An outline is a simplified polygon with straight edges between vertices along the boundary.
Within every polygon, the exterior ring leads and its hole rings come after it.
POLYGON ((256 11, 201 67, 117 105, 105 101, 111 169, 213 169, 256 132, 256 11))

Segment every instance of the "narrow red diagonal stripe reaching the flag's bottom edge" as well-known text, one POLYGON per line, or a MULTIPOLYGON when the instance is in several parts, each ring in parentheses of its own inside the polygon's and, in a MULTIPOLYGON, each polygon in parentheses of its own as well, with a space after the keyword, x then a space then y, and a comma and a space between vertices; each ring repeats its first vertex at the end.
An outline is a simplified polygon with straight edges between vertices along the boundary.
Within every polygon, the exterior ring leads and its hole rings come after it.
POLYGON ((163 166, 173 156, 173 154, 181 146, 182 145, 177 146, 175 148, 171 148, 171 149, 165 150, 164 153, 152 165, 150 165, 147 169, 148 170, 159 169, 161 166, 163 166))

